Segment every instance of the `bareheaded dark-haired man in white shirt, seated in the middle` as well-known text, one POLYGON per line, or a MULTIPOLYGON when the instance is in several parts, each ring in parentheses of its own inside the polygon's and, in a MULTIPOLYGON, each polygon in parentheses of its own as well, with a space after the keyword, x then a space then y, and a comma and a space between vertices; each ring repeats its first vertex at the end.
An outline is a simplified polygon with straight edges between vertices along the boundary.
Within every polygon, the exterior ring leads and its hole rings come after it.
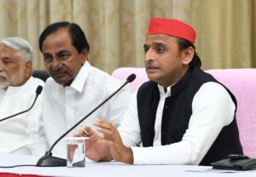
MULTIPOLYGON (((77 24, 64 21, 47 26, 39 37, 39 49, 51 76, 44 86, 43 112, 45 133, 52 145, 122 83, 90 66, 90 46, 77 24)), ((82 124, 92 125, 96 118, 104 118, 119 125, 130 99, 131 90, 122 88, 82 124)), ((69 135, 73 136, 79 128, 69 135)), ((65 140, 55 146, 53 153, 66 157, 65 140)))

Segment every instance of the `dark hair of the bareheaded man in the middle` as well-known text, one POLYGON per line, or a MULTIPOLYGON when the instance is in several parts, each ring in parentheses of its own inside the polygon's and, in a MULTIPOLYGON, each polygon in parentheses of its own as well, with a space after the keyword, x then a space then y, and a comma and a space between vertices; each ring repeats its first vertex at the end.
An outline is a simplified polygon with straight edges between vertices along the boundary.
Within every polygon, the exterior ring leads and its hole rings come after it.
POLYGON ((43 52, 42 47, 43 43, 46 37, 49 36, 49 34, 59 30, 60 28, 68 28, 69 35, 71 37, 73 46, 79 54, 82 52, 82 50, 87 49, 89 52, 90 46, 89 43, 87 42, 87 39, 84 35, 84 31, 80 28, 79 25, 75 23, 69 23, 67 21, 61 21, 57 23, 53 23, 49 26, 47 26, 44 31, 41 33, 39 37, 39 49, 41 52, 43 52))

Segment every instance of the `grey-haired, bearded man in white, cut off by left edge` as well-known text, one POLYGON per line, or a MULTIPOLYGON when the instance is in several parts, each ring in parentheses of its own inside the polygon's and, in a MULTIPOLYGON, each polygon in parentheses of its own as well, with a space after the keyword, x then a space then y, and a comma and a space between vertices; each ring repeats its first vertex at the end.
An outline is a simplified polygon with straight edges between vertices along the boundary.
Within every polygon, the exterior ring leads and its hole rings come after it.
MULTIPOLYGON (((20 37, 0 41, 0 119, 27 110, 44 82, 32 77, 34 54, 20 37)), ((0 122, 0 153, 42 155, 47 144, 39 121, 42 96, 30 111, 0 122)))

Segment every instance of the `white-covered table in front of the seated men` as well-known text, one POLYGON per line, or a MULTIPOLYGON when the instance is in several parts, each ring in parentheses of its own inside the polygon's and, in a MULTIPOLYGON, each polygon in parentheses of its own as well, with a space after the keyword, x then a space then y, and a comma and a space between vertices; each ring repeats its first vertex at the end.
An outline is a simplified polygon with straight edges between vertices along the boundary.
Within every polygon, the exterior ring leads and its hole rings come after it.
MULTIPOLYGON (((36 164, 39 157, 0 154, 0 166, 11 166, 17 164, 36 164)), ((174 176, 174 177, 255 177, 256 170, 251 171, 231 171, 217 170, 209 166, 192 165, 131 165, 125 163, 108 162, 94 163, 86 159, 85 168, 67 167, 16 167, 0 168, 0 176, 4 173, 11 174, 37 174, 42 176, 61 177, 131 177, 131 176, 174 176)))

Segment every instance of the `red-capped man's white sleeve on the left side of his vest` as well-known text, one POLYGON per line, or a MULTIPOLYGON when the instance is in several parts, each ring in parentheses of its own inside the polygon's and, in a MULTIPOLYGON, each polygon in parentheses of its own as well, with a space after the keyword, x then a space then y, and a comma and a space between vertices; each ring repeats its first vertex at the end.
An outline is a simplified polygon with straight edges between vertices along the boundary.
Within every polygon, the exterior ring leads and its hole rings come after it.
POLYGON ((139 146, 142 140, 141 128, 137 117, 137 92, 131 97, 131 102, 120 123, 119 134, 125 146, 139 146))

